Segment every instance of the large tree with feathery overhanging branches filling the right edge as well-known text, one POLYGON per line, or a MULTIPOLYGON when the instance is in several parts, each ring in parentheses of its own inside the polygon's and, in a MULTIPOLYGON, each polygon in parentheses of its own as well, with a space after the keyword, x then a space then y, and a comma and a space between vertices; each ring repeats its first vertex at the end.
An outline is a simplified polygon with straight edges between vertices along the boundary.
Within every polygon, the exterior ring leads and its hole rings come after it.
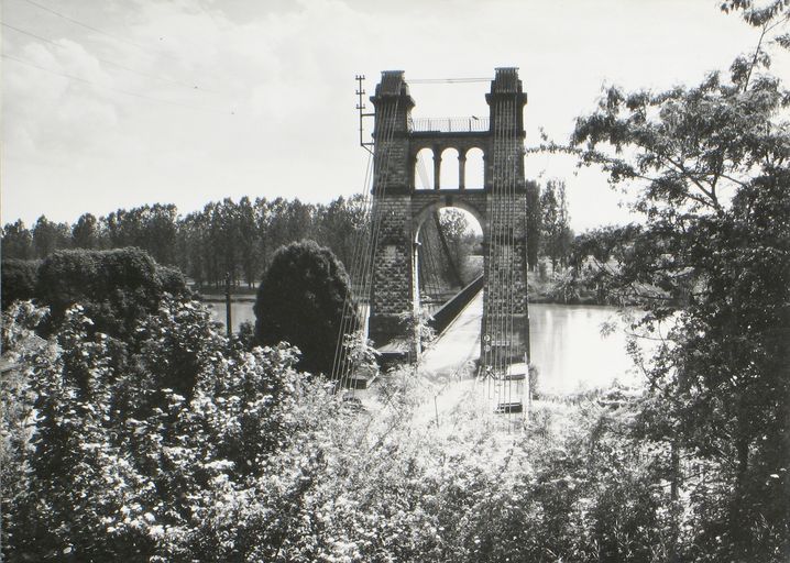
POLYGON ((677 316, 648 371, 643 429, 671 442, 673 460, 682 451, 713 472, 690 482, 703 499, 695 553, 778 562, 790 558, 790 92, 767 73, 767 46, 790 45, 788 35, 771 41, 790 9, 724 9, 760 32, 728 79, 713 73, 658 93, 610 88, 578 120, 572 150, 638 194, 645 223, 614 284, 640 298, 654 334, 656 321, 677 316))

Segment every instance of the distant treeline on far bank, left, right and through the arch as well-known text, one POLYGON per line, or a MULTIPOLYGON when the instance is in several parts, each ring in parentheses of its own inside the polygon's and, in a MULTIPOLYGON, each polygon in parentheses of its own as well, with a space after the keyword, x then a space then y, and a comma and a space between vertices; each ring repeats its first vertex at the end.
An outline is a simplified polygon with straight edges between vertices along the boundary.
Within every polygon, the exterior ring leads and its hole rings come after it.
MULTIPOLYGON (((542 188, 529 183, 527 189, 530 267, 542 256, 566 265, 573 231, 564 183, 549 180, 542 188)), ((282 197, 226 198, 186 216, 172 203, 154 203, 102 217, 84 213, 73 224, 45 216, 31 228, 21 220, 8 223, 2 228, 3 258, 43 260, 57 250, 136 246, 158 264, 177 266, 200 289, 224 284, 229 274, 235 286, 253 287, 279 246, 303 239, 328 246, 349 269, 366 220, 362 195, 341 196, 328 205, 282 197)), ((442 228, 456 266, 462 267, 471 252, 465 216, 442 214, 442 228)), ((450 264, 442 260, 440 267, 450 264)), ((451 278, 450 274, 441 275, 451 278)))

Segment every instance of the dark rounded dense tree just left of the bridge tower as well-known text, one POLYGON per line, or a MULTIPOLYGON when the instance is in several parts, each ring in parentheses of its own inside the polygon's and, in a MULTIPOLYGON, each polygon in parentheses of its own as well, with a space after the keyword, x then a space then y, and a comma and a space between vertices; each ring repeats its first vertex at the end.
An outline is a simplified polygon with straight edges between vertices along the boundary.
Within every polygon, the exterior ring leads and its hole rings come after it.
POLYGON ((257 289, 257 341, 288 342, 301 351, 301 368, 330 373, 350 291, 345 271, 329 249, 312 241, 278 249, 257 289))

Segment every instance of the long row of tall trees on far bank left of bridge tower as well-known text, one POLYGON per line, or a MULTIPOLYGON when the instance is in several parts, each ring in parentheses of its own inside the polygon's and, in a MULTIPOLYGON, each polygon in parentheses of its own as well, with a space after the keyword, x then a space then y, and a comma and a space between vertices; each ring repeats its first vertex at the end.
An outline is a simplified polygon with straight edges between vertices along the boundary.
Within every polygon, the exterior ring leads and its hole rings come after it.
POLYGON ((298 199, 242 197, 211 201, 186 216, 172 203, 119 209, 106 217, 83 214, 74 224, 40 217, 28 229, 20 220, 2 230, 3 257, 42 260, 57 250, 136 246, 160 264, 177 266, 198 287, 223 284, 252 287, 282 245, 314 239, 350 266, 364 228, 361 195, 329 205, 298 199))

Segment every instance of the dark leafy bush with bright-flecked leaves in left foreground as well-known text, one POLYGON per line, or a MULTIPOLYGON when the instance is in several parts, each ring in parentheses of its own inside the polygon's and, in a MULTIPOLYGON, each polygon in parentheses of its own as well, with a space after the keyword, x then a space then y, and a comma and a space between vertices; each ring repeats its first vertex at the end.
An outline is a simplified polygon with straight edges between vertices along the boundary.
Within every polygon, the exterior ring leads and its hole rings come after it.
POLYGON ((259 479, 296 430, 295 356, 229 346, 209 318, 199 303, 166 301, 119 361, 79 306, 36 346, 42 311, 19 305, 6 317, 3 358, 18 382, 0 388, 13 407, 3 410, 7 561, 245 560, 223 536, 235 521, 222 520, 274 485, 275 475, 259 479), (173 385, 182 364, 194 366, 191 388, 173 385))

